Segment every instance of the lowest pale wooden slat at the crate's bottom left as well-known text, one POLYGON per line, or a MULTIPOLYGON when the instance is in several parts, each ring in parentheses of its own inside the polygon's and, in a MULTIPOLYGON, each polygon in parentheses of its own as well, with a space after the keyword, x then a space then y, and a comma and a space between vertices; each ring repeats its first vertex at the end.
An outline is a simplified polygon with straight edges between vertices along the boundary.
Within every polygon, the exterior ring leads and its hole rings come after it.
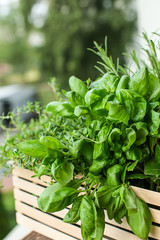
POLYGON ((39 232, 40 234, 45 235, 53 240, 77 240, 77 238, 68 236, 67 234, 59 232, 56 229, 48 227, 20 213, 16 213, 16 220, 18 224, 22 225, 23 223, 23 226, 39 232))

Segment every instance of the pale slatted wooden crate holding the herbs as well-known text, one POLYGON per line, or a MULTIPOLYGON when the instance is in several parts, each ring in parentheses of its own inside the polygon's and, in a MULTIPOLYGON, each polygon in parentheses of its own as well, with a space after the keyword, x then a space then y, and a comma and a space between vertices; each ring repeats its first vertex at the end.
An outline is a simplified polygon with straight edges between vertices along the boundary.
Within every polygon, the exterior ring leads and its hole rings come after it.
MULTIPOLYGON (((26 169, 15 167, 13 170, 17 223, 54 240, 82 239, 80 222, 71 225, 62 221, 68 212, 67 208, 53 214, 44 213, 38 208, 37 196, 43 192, 50 178, 43 176, 42 180, 39 180, 38 178, 31 178, 32 175, 34 173, 26 169)), ((149 239, 160 240, 160 210, 158 210, 158 207, 160 209, 160 193, 137 187, 133 187, 133 189, 137 196, 150 204, 153 224, 149 239)), ((107 214, 103 239, 139 240, 132 233, 125 219, 119 225, 113 220, 110 221, 107 214)))

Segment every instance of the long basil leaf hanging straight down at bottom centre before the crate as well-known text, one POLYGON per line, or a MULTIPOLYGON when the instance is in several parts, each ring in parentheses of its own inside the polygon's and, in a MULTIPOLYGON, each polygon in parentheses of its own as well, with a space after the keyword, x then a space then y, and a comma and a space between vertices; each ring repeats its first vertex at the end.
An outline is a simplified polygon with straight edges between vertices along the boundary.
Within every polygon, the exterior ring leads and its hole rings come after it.
POLYGON ((85 195, 80 205, 80 219, 84 231, 94 238, 96 234, 97 211, 91 196, 85 195))

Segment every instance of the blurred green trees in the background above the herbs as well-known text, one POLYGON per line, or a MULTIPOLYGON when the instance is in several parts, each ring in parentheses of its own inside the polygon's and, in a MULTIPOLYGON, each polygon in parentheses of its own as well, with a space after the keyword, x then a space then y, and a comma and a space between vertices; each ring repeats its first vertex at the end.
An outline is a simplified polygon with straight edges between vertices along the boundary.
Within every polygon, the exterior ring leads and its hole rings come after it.
POLYGON ((133 0, 19 0, 0 16, 0 63, 11 66, 12 76, 1 83, 48 81, 55 76, 63 88, 68 78, 96 79, 97 56, 87 51, 93 41, 108 36, 115 60, 133 39, 136 12, 133 0), (28 74, 30 72, 30 74, 28 74), (13 74, 14 73, 14 74, 13 74), (15 74, 19 73, 19 75, 15 74))

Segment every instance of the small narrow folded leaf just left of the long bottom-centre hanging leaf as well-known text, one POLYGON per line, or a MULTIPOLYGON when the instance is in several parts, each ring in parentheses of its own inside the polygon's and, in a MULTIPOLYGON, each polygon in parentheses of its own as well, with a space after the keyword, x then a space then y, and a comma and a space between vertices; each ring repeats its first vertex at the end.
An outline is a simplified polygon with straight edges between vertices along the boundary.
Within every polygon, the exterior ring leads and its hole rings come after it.
POLYGON ((68 211, 68 213, 65 215, 63 221, 67 223, 76 223, 80 219, 80 205, 82 201, 82 197, 77 197, 75 201, 73 202, 73 205, 71 209, 68 211))

